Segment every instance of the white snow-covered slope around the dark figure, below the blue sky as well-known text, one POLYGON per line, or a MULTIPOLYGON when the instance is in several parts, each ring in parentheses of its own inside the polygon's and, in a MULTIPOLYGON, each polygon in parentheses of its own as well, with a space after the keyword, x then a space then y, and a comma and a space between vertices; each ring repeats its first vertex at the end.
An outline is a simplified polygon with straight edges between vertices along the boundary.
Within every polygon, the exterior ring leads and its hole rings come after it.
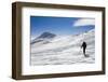
POLYGON ((94 29, 76 36, 38 38, 31 41, 30 64, 35 65, 71 65, 95 63, 95 31, 94 29), (85 41, 86 55, 81 49, 85 41))

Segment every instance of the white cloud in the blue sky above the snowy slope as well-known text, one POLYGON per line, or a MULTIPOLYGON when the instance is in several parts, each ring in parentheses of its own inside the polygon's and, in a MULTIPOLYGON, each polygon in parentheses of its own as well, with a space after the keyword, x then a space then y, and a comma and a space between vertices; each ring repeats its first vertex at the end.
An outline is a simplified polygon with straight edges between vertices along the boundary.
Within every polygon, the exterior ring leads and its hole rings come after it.
POLYGON ((87 26, 87 25, 95 25, 95 19, 94 18, 82 18, 82 19, 78 19, 73 26, 78 27, 78 26, 87 26))

